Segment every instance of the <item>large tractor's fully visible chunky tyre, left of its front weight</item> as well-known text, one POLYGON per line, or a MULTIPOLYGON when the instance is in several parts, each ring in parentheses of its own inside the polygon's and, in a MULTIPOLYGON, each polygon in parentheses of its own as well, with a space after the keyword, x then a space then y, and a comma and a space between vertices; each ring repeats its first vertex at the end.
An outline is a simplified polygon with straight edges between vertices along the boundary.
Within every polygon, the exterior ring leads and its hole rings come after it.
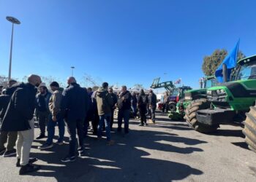
POLYGON ((186 122, 189 124, 192 129, 196 130, 197 132, 215 132, 219 124, 214 125, 206 125, 203 123, 200 123, 197 121, 196 118, 196 112, 201 109, 210 108, 210 103, 207 102, 206 98, 200 98, 197 100, 192 100, 191 103, 189 103, 189 106, 187 106, 187 109, 185 111, 184 119, 186 119, 186 122))

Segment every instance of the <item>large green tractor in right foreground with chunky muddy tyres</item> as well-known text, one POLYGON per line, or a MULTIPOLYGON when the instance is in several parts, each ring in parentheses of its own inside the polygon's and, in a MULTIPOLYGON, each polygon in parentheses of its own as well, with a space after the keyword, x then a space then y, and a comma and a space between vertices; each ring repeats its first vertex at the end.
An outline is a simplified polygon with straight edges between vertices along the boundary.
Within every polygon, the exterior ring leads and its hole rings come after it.
POLYGON ((238 60, 230 80, 208 88, 206 99, 193 100, 185 118, 190 127, 205 133, 216 131, 219 124, 242 124, 246 143, 256 151, 256 55, 238 60))

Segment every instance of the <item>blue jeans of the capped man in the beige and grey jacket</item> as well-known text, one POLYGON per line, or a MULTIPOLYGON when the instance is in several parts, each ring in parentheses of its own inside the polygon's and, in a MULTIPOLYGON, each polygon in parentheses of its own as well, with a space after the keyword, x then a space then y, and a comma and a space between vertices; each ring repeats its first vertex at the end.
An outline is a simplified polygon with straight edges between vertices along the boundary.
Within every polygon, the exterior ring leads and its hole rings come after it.
POLYGON ((56 122, 53 122, 52 116, 50 115, 49 122, 47 124, 47 131, 48 131, 48 138, 46 143, 51 144, 53 143, 53 137, 55 133, 55 126, 58 123, 59 127, 59 142, 63 141, 64 138, 64 132, 65 132, 65 124, 64 124, 64 119, 57 119, 56 122))

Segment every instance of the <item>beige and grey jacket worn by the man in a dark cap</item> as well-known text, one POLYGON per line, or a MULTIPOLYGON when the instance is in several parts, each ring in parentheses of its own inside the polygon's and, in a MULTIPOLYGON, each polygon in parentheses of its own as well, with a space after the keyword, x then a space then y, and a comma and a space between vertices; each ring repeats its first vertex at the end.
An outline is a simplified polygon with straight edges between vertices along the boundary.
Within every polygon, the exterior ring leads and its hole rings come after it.
POLYGON ((50 97, 49 110, 53 116, 57 116, 57 114, 59 114, 61 111, 61 99, 63 90, 63 88, 58 88, 58 90, 55 90, 50 97))

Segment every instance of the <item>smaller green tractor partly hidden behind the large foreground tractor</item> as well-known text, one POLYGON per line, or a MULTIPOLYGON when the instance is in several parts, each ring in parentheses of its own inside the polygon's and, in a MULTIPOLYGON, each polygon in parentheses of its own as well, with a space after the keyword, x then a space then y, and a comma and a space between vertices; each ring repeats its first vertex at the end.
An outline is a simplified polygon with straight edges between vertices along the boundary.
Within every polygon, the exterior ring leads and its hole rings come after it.
POLYGON ((181 120, 185 116, 186 108, 189 106, 189 104, 192 102, 192 100, 197 100, 200 98, 206 99, 206 89, 209 87, 213 87, 217 84, 217 80, 215 79, 215 76, 206 76, 200 79, 200 89, 192 90, 191 88, 188 90, 184 90, 186 92, 183 92, 183 96, 181 97, 181 100, 178 101, 176 104, 176 110, 170 111, 168 116, 170 119, 173 120, 181 120))

